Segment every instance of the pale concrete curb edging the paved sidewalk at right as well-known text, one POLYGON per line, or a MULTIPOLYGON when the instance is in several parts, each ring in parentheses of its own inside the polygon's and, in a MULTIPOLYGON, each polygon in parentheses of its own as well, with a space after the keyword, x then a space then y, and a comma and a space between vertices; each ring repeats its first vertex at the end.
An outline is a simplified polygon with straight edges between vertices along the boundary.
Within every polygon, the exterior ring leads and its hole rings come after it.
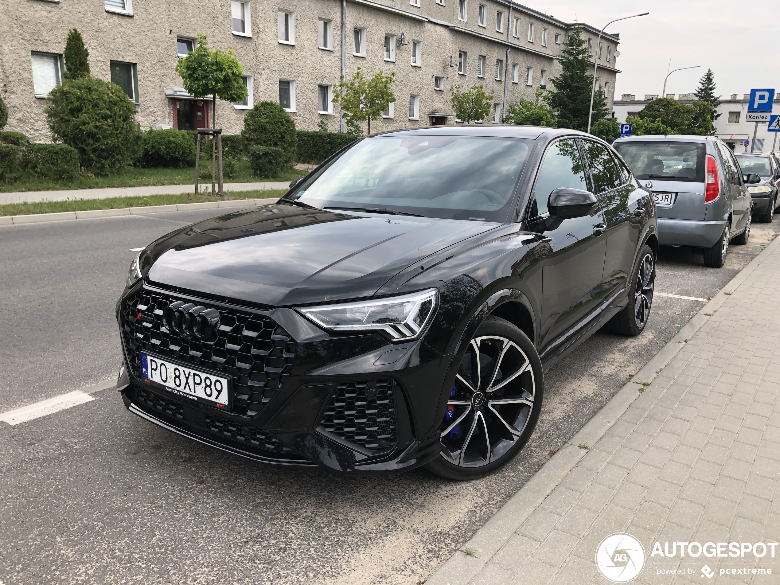
POLYGON ((541 470, 534 473, 534 476, 523 485, 523 488, 520 488, 512 498, 509 498, 509 502, 506 502, 498 512, 488 519, 483 527, 477 530, 470 541, 464 545, 464 548, 476 551, 473 556, 456 552, 425 582, 426 585, 467 585, 470 583, 498 550, 512 538, 523 522, 544 502, 544 498, 547 498, 558 487, 566 474, 573 470, 580 459, 587 454, 587 449, 580 449, 578 445, 595 445, 612 428, 622 413, 628 410, 634 400, 639 398, 640 390, 653 381, 661 369, 672 361, 680 349, 683 349, 686 339, 690 339, 702 325, 709 321, 707 314, 712 314, 721 307, 727 297, 725 293, 732 292, 742 284, 778 246, 780 246, 780 237, 761 250, 761 253, 739 271, 739 274, 705 304, 699 313, 693 315, 691 320, 666 342, 665 346, 658 350, 658 353, 652 356, 644 367, 630 381, 626 382, 626 385, 615 393, 612 399, 580 431, 566 442, 562 449, 559 449, 542 466, 541 470))

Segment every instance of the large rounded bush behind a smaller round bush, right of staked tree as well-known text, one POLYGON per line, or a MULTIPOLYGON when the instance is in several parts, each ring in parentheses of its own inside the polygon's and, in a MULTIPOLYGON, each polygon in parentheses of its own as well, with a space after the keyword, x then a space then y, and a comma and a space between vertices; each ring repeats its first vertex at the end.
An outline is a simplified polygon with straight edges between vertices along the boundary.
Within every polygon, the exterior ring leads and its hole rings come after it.
POLYGON ((246 112, 241 137, 246 153, 254 146, 274 147, 282 151, 282 166, 295 161, 295 122, 273 101, 261 101, 246 112))

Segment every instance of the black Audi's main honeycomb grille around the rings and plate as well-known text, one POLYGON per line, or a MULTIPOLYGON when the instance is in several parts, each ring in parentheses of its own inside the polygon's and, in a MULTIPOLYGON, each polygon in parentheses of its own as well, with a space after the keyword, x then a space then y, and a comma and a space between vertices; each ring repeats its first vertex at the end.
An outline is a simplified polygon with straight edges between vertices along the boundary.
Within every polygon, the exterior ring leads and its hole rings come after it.
POLYGON ((140 290, 122 303, 120 325, 130 370, 141 378, 140 353, 144 351, 228 374, 233 381, 233 412, 259 412, 293 371, 295 340, 270 317, 222 307, 215 307, 220 324, 207 341, 169 332, 162 314, 176 300, 140 290))

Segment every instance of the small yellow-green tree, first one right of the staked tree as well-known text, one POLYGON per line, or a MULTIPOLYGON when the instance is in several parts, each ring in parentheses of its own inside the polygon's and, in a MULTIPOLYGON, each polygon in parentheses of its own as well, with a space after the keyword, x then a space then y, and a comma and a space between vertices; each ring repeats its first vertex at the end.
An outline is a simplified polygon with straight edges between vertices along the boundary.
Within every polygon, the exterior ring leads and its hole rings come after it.
POLYGON ((351 80, 341 76, 336 86, 339 93, 333 97, 333 103, 341 107, 347 126, 354 129, 354 122, 368 120, 368 133, 371 134, 371 120, 378 119, 395 101, 395 94, 390 90, 393 83, 395 73, 387 76, 380 71, 367 80, 358 67, 351 80))

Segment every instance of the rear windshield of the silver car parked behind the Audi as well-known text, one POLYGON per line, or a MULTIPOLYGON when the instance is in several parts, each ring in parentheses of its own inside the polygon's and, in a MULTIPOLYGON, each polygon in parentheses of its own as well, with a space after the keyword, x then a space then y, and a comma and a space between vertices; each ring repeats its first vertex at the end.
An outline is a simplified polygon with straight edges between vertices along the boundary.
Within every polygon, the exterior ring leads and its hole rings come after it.
POLYGON ((615 144, 637 179, 704 183, 704 143, 648 140, 615 144))

